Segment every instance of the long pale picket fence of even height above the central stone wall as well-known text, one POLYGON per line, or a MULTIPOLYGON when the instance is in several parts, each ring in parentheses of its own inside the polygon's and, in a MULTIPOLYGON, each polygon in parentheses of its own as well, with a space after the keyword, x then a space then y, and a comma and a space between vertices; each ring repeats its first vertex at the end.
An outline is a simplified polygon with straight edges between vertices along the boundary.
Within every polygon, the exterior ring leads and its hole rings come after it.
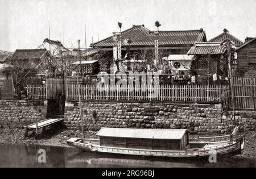
MULTIPOLYGON (((81 99, 147 101, 223 101, 228 98, 225 85, 159 85, 117 88, 80 84, 81 99)), ((79 99, 77 84, 67 84, 66 99, 79 99)))

